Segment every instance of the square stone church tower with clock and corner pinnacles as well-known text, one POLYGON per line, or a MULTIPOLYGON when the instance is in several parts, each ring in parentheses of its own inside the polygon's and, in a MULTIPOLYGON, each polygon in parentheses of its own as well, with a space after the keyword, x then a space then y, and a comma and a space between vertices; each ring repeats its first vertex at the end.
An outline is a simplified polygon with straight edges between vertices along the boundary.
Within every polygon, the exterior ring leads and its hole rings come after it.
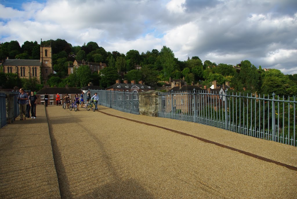
POLYGON ((52 61, 52 42, 50 46, 44 46, 42 39, 40 41, 40 62, 41 62, 41 77, 43 80, 47 80, 48 76, 53 73, 53 61, 52 61))

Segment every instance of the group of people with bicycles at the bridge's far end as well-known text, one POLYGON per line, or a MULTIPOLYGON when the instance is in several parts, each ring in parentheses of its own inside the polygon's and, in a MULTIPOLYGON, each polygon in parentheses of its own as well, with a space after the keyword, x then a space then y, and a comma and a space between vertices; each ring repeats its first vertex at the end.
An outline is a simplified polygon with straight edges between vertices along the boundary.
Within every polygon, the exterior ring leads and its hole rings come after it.
MULTIPOLYGON (((84 108, 85 109, 87 107, 89 101, 90 100, 93 100, 94 101, 94 104, 95 104, 95 109, 98 111, 97 104, 98 104, 99 96, 97 95, 97 93, 95 93, 95 95, 93 95, 91 97, 91 92, 88 91, 88 93, 87 93, 87 102, 85 103, 84 107, 83 107, 83 104, 84 104, 83 103, 84 102, 83 94, 84 94, 84 92, 81 92, 80 96, 78 94, 75 94, 75 97, 73 98, 73 100, 77 104, 77 110, 79 111, 79 104, 81 104, 80 108, 84 108)), ((65 95, 64 100, 66 101, 67 109, 69 109, 70 97, 69 97, 68 93, 65 95)), ((60 106, 61 101, 60 101, 60 95, 59 95, 59 93, 57 93, 57 95, 56 95, 56 101, 57 101, 57 106, 58 106, 58 104, 60 106)))

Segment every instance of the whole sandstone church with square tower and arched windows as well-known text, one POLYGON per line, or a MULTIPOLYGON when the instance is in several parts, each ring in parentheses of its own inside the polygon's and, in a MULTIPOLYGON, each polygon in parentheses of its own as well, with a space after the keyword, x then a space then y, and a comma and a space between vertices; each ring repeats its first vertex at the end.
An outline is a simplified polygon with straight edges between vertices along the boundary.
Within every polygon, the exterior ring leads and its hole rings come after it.
POLYGON ((40 60, 7 59, 2 63, 4 73, 16 73, 19 78, 36 77, 39 81, 48 79, 53 73, 52 46, 43 46, 40 42, 40 60))

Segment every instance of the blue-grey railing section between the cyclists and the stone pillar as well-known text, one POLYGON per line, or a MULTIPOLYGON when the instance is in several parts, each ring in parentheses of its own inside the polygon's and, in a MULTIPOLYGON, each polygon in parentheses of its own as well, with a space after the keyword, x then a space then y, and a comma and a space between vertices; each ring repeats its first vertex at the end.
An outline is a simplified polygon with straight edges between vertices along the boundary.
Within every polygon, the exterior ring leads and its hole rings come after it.
MULTIPOLYGON (((139 96, 138 93, 120 92, 110 90, 90 90, 91 97, 97 93, 99 104, 122 112, 139 115, 139 96)), ((83 95, 84 101, 87 93, 83 95)))

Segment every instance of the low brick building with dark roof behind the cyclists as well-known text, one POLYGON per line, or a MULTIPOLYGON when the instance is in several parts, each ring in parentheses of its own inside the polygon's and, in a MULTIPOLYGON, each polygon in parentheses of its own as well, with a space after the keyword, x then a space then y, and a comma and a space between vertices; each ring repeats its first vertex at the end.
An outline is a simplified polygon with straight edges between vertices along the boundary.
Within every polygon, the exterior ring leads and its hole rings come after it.
MULTIPOLYGON (((66 94, 68 94, 69 97, 71 99, 73 99, 75 94, 78 94, 78 96, 80 96, 81 90, 77 89, 77 88, 68 88, 68 87, 65 87, 65 88, 64 87, 63 88, 57 88, 57 87, 46 88, 46 87, 44 87, 36 93, 38 96, 36 104, 44 105, 45 93, 48 94, 48 105, 56 105, 56 94, 57 93, 59 93, 61 99, 64 98, 66 96, 66 94)), ((61 102, 62 102, 62 100, 61 100, 61 102)))

